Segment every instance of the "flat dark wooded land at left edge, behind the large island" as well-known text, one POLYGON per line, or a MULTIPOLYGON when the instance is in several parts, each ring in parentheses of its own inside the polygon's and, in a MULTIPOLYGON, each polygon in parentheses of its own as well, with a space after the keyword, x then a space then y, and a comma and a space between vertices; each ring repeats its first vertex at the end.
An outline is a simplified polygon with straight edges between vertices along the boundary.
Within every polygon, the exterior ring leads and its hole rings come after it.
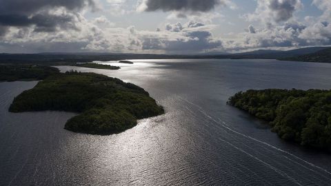
POLYGON ((0 81, 42 80, 59 73, 57 68, 40 65, 0 65, 0 81))

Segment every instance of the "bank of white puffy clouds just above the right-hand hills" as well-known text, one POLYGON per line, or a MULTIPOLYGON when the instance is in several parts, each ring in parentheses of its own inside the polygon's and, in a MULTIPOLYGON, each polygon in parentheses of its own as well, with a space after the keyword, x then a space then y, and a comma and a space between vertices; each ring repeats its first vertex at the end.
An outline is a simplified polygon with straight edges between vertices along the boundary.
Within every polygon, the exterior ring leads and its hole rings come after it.
POLYGON ((237 34, 237 39, 223 39, 228 52, 256 50, 259 48, 288 49, 314 45, 331 45, 331 25, 317 22, 304 25, 288 21, 283 25, 257 29, 250 25, 248 32, 237 34))

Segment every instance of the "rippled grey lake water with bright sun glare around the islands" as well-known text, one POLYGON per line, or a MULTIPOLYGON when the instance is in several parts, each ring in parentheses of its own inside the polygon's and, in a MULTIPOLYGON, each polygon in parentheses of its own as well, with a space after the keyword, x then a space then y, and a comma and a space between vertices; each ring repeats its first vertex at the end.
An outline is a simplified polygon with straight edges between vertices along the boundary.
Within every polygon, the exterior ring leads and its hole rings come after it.
POLYGON ((331 89, 331 64, 135 60, 121 70, 61 66, 137 84, 166 114, 112 136, 63 130, 66 112, 13 114, 37 82, 0 83, 0 185, 331 185, 331 154, 285 143, 226 105, 248 89, 331 89))

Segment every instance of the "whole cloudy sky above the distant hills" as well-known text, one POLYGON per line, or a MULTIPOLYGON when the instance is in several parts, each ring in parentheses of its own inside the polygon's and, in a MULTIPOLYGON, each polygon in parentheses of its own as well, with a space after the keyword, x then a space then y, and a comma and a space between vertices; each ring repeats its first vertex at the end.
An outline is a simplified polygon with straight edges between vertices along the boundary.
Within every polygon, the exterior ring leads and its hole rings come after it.
POLYGON ((0 53, 290 50, 330 23, 331 0, 0 0, 0 53))

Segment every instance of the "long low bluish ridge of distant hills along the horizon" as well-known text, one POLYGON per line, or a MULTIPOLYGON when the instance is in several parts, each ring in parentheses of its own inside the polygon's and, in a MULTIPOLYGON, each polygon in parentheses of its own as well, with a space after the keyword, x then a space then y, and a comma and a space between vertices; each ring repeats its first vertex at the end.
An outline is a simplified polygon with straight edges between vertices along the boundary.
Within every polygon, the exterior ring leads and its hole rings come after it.
MULTIPOLYGON (((312 54, 326 48, 312 47, 300 48, 296 50, 255 50, 237 54, 130 54, 130 53, 107 53, 107 52, 46 52, 39 54, 0 54, 0 64, 30 64, 30 65, 74 65, 76 63, 86 63, 92 61, 119 61, 126 59, 286 59, 312 54)), ((301 61, 297 59, 296 61, 301 61)), ((313 59, 312 59, 313 61, 313 59)), ((325 60, 324 60, 325 61, 325 60)))

